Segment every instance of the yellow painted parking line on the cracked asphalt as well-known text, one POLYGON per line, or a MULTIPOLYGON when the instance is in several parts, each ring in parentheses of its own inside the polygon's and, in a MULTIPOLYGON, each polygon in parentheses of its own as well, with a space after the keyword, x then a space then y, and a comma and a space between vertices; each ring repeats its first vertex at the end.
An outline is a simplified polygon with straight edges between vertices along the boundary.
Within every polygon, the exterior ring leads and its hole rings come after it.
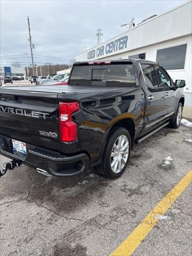
POLYGON ((190 170, 182 180, 159 202, 145 219, 133 230, 133 232, 123 241, 111 256, 129 256, 140 245, 149 234, 150 230, 158 222, 158 216, 165 214, 174 201, 186 189, 192 181, 192 170, 190 170))

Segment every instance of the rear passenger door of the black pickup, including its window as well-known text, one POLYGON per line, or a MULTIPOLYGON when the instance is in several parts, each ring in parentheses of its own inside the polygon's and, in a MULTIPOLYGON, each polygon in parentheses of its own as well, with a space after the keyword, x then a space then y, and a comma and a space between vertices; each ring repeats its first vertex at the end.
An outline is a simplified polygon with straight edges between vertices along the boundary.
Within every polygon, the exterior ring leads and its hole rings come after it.
POLYGON ((156 71, 153 65, 141 63, 146 91, 146 111, 144 115, 144 133, 158 126, 164 116, 165 92, 158 86, 156 71))

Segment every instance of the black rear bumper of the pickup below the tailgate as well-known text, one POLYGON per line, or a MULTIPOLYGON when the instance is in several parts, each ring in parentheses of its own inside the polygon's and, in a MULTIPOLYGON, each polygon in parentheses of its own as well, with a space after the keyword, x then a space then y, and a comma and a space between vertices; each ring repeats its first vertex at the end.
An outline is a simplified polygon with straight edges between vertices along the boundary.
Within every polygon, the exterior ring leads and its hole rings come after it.
POLYGON ((13 151, 12 140, 0 135, 0 153, 11 159, 17 159, 34 169, 45 170, 56 177, 67 177, 87 172, 90 166, 89 157, 85 153, 64 156, 58 152, 26 144, 27 154, 13 151))

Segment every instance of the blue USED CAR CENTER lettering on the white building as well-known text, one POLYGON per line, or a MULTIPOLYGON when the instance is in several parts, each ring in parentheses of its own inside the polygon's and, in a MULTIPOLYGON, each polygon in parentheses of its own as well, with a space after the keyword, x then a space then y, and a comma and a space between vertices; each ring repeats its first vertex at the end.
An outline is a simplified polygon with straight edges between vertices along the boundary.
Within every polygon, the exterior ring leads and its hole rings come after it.
POLYGON ((99 46, 96 50, 91 50, 87 52, 87 59, 91 60, 95 57, 101 57, 104 54, 109 54, 116 52, 118 50, 123 50, 127 46, 127 36, 119 37, 118 39, 107 43, 106 45, 99 46))

